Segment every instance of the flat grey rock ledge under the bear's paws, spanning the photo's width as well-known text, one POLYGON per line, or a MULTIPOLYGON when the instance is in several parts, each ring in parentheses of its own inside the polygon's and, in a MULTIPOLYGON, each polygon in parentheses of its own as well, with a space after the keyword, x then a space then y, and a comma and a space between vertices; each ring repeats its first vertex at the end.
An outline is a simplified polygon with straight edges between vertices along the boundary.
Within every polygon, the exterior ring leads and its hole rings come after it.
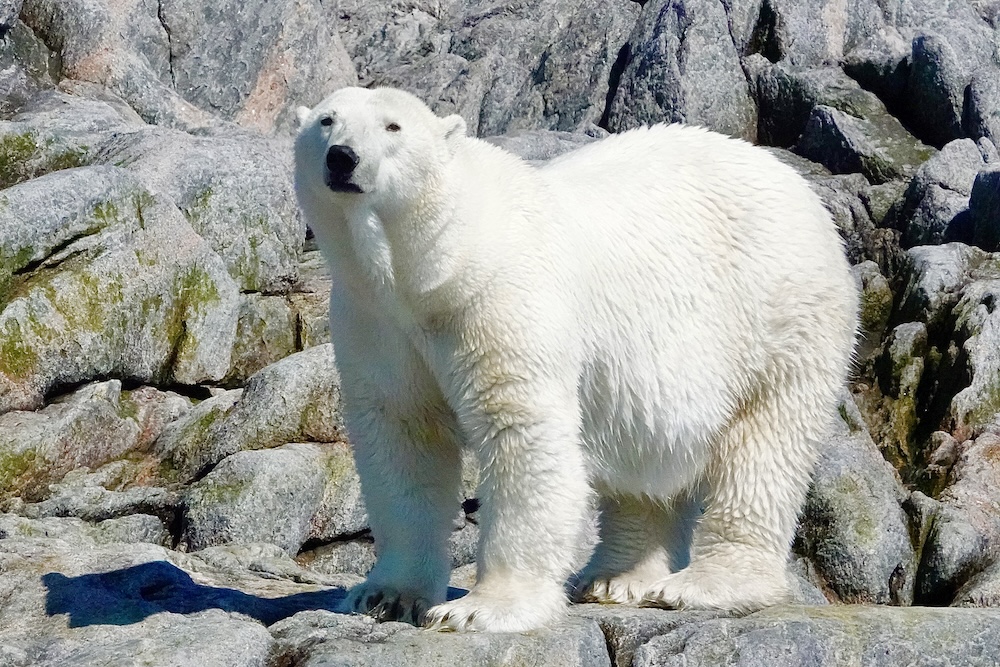
POLYGON ((110 528, 0 515, 0 665, 1000 664, 998 609, 574 605, 545 630, 431 632, 336 613, 360 579, 309 572, 274 545, 182 553, 110 528))

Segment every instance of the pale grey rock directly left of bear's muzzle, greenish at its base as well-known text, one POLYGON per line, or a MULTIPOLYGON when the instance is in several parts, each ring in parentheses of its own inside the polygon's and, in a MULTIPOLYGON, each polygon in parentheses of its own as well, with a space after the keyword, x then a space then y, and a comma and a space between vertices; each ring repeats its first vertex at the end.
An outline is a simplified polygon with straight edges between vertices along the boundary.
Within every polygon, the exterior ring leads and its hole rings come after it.
POLYGON ((105 142, 95 160, 169 197, 243 291, 285 292, 295 282, 304 225, 287 142, 151 129, 105 142))

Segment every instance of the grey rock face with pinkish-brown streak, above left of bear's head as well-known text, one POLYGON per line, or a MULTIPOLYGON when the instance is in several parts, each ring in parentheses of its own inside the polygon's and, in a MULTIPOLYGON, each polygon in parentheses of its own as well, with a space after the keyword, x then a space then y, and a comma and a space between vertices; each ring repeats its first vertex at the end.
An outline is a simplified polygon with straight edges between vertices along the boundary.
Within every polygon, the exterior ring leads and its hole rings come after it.
POLYGON ((337 23, 323 11, 316 0, 163 0, 171 84, 216 117, 264 133, 294 132, 297 106, 357 83, 337 23))

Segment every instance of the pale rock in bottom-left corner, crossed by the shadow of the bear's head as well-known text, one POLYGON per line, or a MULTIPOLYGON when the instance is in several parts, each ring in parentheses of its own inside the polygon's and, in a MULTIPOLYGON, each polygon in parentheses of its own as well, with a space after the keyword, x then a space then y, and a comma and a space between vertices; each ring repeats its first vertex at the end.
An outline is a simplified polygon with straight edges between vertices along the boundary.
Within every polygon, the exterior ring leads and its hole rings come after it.
MULTIPOLYGON (((224 611, 167 553, 85 538, 0 540, 0 645, 16 659, 8 664, 83 667, 129 656, 164 667, 263 667, 272 645, 264 627, 224 611)), ((219 592, 223 601, 236 593, 219 592)))

